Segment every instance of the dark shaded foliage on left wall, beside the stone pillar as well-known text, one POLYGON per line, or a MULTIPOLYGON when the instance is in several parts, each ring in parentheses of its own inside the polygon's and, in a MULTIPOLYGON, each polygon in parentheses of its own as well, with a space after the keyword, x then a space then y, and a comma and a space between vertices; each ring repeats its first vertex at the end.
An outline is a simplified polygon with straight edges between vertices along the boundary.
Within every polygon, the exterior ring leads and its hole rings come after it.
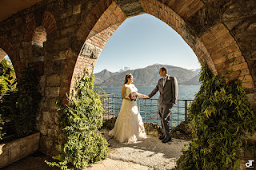
POLYGON ((42 96, 38 92, 38 73, 31 68, 24 68, 20 73, 18 92, 3 96, 0 106, 4 116, 10 118, 16 135, 22 137, 35 131, 42 96))

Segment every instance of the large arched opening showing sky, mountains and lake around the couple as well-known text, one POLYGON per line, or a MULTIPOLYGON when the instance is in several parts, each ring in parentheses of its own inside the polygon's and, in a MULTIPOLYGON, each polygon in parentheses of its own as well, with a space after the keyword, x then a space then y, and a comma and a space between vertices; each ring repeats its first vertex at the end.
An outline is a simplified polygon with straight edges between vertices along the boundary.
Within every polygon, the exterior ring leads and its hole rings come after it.
MULTIPOLYGON (((200 89, 198 71, 201 65, 198 58, 179 34, 150 14, 141 14, 122 22, 106 43, 94 67, 94 85, 108 94, 103 103, 104 118, 118 116, 126 73, 133 74, 133 84, 138 93, 149 95, 161 78, 158 70, 162 66, 178 80, 178 105, 174 106, 170 117, 170 128, 174 128, 185 121, 187 106, 200 89), (114 103, 111 104, 111 101, 114 103)), ((139 107, 143 122, 160 125, 158 96, 159 93, 154 95, 155 100, 138 99, 138 103, 143 103, 139 107)))

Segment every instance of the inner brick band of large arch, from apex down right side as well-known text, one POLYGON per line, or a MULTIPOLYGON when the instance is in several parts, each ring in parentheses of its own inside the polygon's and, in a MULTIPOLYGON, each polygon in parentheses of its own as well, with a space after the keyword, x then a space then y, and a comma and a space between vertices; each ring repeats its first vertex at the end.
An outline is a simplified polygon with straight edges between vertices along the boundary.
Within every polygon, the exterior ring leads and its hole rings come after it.
POLYGON ((147 14, 153 15, 174 29, 194 50, 194 53, 198 57, 198 61, 206 61, 212 73, 215 75, 217 74, 217 70, 215 68, 214 62, 210 57, 210 53, 208 53, 203 43, 200 41, 190 42, 190 40, 186 37, 187 34, 190 33, 185 30, 185 20, 190 18, 193 14, 202 8, 203 3, 200 0, 186 0, 183 2, 180 1, 178 3, 174 3, 175 1, 166 0, 141 0, 141 2, 142 8, 147 14))

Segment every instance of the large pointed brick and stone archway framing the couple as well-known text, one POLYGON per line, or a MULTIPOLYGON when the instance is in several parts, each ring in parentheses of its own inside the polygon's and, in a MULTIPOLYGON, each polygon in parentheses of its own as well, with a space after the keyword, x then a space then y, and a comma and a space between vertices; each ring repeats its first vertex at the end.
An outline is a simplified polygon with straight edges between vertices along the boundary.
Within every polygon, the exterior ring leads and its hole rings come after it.
MULTIPOLYGON (((225 2, 218 2, 214 6, 222 3, 225 2)), ((66 51, 60 97, 66 97, 65 94, 70 93, 70 90, 74 88, 75 78, 83 69, 93 71, 106 42, 126 18, 147 13, 166 22, 180 34, 194 50, 198 60, 206 61, 212 73, 224 74, 230 81, 240 79, 242 86, 247 91, 251 90, 248 96, 256 107, 253 99, 256 91, 255 63, 250 62, 250 56, 245 53, 246 48, 238 40, 239 36, 234 34, 234 30, 230 30, 230 26, 227 25, 230 20, 224 21, 222 18, 216 18, 209 24, 205 23, 207 18, 205 15, 214 12, 214 9, 209 7, 210 5, 210 2, 205 4, 200 0, 100 0, 82 20, 74 37, 74 43, 72 43, 75 46, 71 45, 66 51), (205 26, 203 29, 193 26, 195 18, 200 18, 200 16, 202 23, 198 19, 197 24, 205 26), (233 73, 230 73, 231 70, 233 73)), ((222 12, 222 15, 225 15, 225 12, 222 12)), ((256 49, 252 53, 255 51, 256 49)))

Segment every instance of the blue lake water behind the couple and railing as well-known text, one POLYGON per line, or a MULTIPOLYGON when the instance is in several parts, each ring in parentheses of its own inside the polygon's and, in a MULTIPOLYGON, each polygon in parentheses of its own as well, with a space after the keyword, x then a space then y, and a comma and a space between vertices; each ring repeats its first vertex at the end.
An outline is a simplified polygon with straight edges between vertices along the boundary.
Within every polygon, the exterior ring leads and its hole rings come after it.
MULTIPOLYGON (((102 88, 106 93, 114 93, 114 97, 121 97, 122 87, 109 87, 102 88)), ((138 93, 149 95, 154 87, 137 87, 138 93)), ((194 95, 198 93, 200 85, 179 85, 178 86, 178 100, 193 100, 194 95)), ((158 99, 159 92, 152 97, 152 99, 158 99)), ((120 107, 122 105, 122 98, 115 100, 114 102, 114 115, 117 117, 120 107)), ((138 100, 138 109, 144 122, 154 122, 160 125, 158 116, 158 101, 157 100, 138 100), (146 105, 146 106, 145 106, 146 105), (152 106, 153 105, 153 106, 152 106)), ((189 105, 189 102, 187 103, 189 105)), ((178 125, 180 122, 185 120, 185 101, 178 101, 178 105, 174 105, 172 114, 170 117, 170 128, 178 125)))

